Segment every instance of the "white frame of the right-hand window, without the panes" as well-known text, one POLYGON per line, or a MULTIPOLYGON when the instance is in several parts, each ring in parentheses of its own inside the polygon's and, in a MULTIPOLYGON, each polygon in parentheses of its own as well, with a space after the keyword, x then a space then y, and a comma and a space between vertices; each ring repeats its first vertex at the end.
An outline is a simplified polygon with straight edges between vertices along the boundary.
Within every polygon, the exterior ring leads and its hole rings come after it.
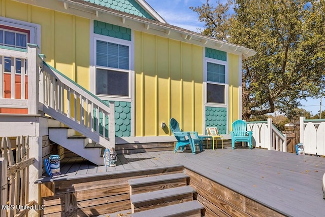
POLYGON ((205 57, 204 58, 204 102, 206 106, 209 107, 228 107, 228 100, 229 100, 229 67, 228 67, 228 61, 222 61, 222 60, 217 60, 217 59, 212 59, 205 57), (207 80, 208 77, 208 72, 207 72, 207 63, 215 63, 219 65, 224 65, 225 68, 225 83, 219 83, 219 82, 210 82, 207 80), (223 85, 224 86, 224 103, 217 103, 217 102, 208 102, 208 84, 217 84, 217 85, 223 85))

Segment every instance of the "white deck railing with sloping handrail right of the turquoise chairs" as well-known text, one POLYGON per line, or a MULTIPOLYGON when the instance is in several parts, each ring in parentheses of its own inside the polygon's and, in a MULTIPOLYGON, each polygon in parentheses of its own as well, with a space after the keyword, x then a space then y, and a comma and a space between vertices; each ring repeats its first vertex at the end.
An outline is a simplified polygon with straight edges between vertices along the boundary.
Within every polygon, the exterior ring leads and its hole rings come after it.
POLYGON ((247 122, 247 130, 253 131, 253 147, 286 152, 286 135, 283 135, 273 124, 268 121, 247 122))

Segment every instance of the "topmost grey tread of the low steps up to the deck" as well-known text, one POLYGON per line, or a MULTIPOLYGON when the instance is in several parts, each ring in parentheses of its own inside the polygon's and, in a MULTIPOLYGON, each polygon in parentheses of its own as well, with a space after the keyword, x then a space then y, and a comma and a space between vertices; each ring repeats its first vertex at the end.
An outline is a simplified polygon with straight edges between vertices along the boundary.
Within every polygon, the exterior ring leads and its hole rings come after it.
POLYGON ((144 185, 149 183, 156 183, 156 182, 164 182, 168 180, 180 179, 180 178, 188 178, 189 176, 185 173, 174 173, 174 174, 167 174, 167 175, 156 175, 156 176, 149 176, 144 178, 133 178, 128 180, 128 184, 130 186, 137 186, 137 185, 144 185))

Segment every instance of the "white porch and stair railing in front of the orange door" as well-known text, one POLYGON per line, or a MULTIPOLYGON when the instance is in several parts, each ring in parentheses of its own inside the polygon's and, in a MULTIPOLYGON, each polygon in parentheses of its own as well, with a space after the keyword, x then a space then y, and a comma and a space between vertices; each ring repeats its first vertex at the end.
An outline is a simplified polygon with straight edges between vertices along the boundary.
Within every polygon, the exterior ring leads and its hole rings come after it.
POLYGON ((27 50, 0 46, 0 109, 22 108, 28 114, 43 111, 105 148, 114 147, 114 102, 106 104, 43 57, 37 45, 27 44, 27 50), (7 74, 10 78, 2 79, 7 74))

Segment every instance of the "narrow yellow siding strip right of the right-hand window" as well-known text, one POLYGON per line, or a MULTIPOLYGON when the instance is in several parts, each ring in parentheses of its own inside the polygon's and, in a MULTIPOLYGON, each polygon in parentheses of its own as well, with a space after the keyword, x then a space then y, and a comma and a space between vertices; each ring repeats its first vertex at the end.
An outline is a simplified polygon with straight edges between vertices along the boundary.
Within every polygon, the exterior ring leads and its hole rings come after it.
POLYGON ((239 56, 229 53, 229 131, 232 130, 232 123, 239 117, 241 105, 239 96, 239 56))

